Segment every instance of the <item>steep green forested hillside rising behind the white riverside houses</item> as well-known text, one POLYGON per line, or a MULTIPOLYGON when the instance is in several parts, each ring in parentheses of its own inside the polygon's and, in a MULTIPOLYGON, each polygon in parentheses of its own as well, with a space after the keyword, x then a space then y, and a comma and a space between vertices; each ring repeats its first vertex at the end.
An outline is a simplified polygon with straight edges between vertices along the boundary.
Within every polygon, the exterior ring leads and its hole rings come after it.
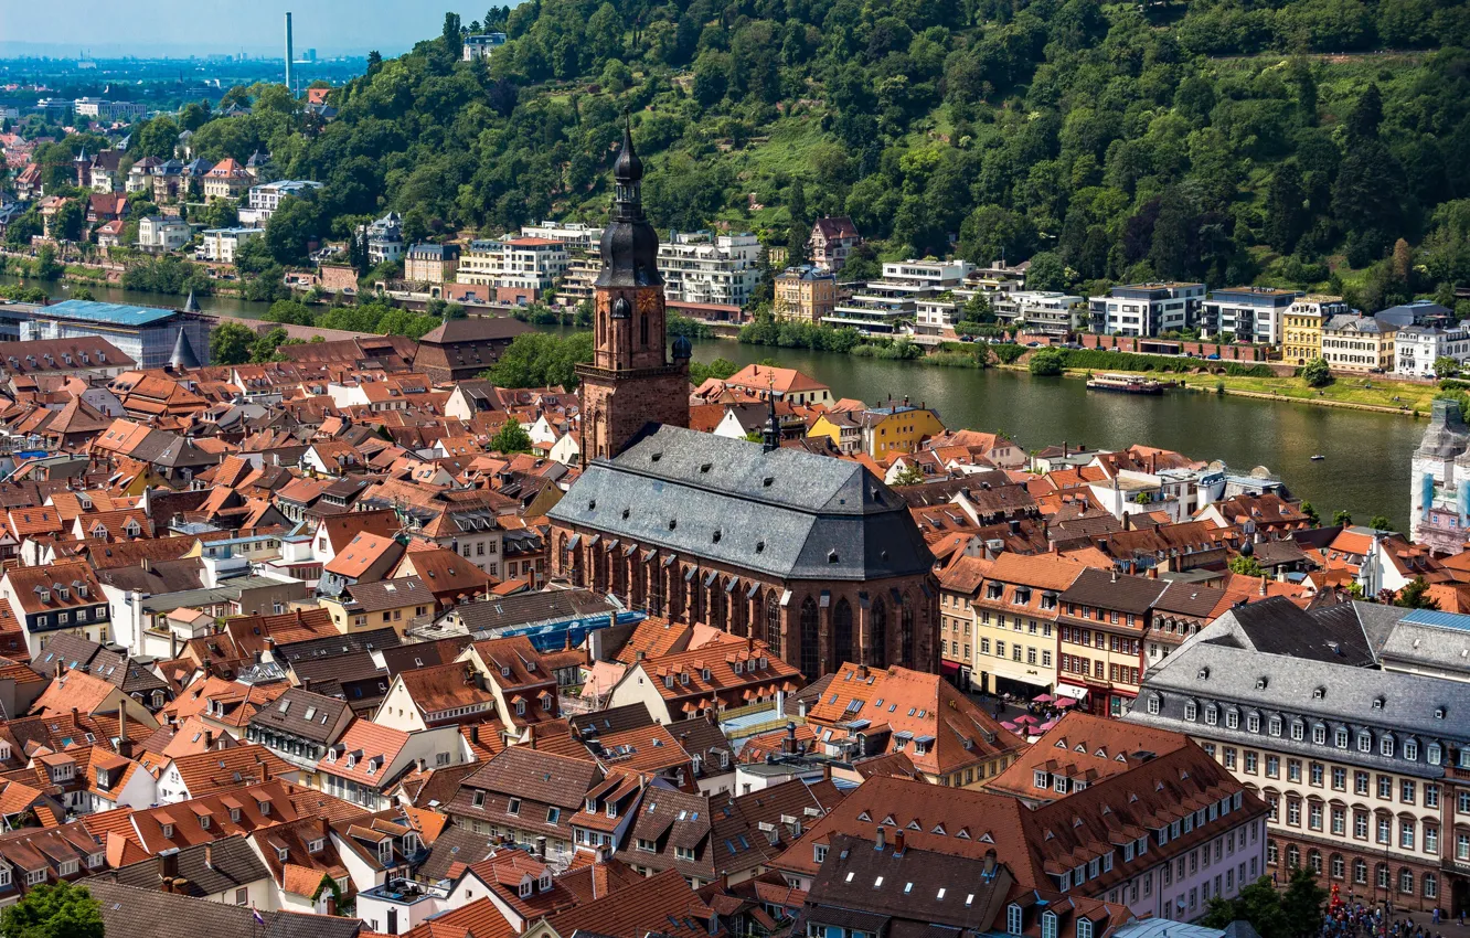
POLYGON ((325 126, 257 94, 194 141, 325 181, 338 234, 387 207, 498 232, 601 219, 626 109, 663 229, 797 246, 851 215, 883 257, 1039 251, 1041 285, 1373 304, 1470 282, 1466 46, 1448 0, 526 0, 373 57, 325 126), (460 62, 487 29, 507 46, 460 62))

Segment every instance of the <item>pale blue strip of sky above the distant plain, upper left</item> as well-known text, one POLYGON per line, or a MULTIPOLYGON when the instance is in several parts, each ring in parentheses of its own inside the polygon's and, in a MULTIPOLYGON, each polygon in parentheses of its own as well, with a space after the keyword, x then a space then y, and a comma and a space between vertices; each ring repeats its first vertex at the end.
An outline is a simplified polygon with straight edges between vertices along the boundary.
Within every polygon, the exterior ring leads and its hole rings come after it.
MULTIPOLYGON (((66 54, 79 49, 113 57, 213 53, 275 54, 293 13, 297 56, 406 51, 440 34, 445 10, 465 22, 485 15, 488 0, 456 9, 450 0, 0 0, 0 54, 66 54)), ((504 0, 501 0, 504 1, 504 0)), ((513 6, 514 3, 512 3, 513 6)))

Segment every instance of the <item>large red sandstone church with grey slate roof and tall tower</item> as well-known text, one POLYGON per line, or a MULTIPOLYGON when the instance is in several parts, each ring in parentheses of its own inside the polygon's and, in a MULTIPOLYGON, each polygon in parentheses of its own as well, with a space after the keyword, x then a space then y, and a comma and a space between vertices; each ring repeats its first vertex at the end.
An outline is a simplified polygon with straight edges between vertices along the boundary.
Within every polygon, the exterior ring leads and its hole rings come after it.
POLYGON ((550 512, 551 572, 681 623, 753 635, 808 678, 939 667, 933 556, 857 462, 689 426, 689 340, 666 335, 659 235, 623 131, 578 368, 582 476, 550 512))

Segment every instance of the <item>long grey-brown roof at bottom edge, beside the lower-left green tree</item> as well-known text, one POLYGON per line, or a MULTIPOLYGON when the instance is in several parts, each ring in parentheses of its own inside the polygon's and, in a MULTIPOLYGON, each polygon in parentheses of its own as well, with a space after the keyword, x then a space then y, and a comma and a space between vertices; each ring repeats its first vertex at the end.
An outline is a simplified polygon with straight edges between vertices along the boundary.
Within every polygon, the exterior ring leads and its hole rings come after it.
POLYGON ((162 889, 88 881, 107 938, 357 938, 362 922, 297 912, 262 912, 162 889))

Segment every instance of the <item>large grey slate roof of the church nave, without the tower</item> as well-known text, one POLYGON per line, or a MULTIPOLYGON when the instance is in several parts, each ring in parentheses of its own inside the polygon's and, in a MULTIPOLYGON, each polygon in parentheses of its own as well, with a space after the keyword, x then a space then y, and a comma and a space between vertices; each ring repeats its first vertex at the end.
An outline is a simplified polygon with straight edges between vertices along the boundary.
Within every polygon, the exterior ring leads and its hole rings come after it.
POLYGON ((933 566, 903 498, 860 463, 678 426, 589 465, 550 518, 781 579, 933 566))

